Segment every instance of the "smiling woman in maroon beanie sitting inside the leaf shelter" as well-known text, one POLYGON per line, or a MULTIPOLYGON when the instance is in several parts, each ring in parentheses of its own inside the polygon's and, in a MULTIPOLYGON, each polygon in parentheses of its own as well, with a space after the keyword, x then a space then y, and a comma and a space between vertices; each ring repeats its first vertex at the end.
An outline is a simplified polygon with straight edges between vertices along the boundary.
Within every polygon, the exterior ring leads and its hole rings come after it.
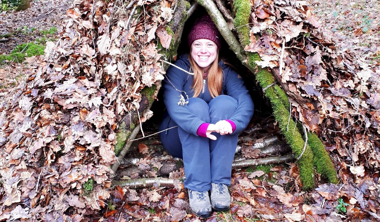
POLYGON ((169 67, 162 84, 167 113, 160 139, 171 155, 183 158, 190 208, 200 217, 230 208, 237 137, 253 115, 244 81, 219 59, 220 39, 211 18, 200 17, 188 34, 190 54, 175 62, 182 70, 169 67), (178 103, 179 97, 188 99, 178 103))

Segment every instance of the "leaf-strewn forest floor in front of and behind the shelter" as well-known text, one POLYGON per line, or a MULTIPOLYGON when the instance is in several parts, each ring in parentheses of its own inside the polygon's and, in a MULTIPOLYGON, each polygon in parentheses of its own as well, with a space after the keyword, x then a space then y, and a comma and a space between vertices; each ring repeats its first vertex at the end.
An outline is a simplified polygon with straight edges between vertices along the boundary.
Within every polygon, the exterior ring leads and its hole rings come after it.
MULTIPOLYGON (((26 11, 0 13, 0 35, 11 33, 0 38, 8 39, 0 42, 0 54, 8 55, 22 43, 40 44, 54 39, 54 34, 47 31, 52 27, 57 28, 56 33, 62 30, 65 12, 72 4, 72 0, 32 0, 32 7, 26 11)), ((358 53, 369 66, 379 66, 379 0, 312 0, 310 4, 325 29, 326 38, 358 53)), ((41 57, 27 58, 24 62, 0 61, 0 96, 10 93, 39 61, 41 57)), ((267 130, 261 131, 260 136, 250 136, 257 142, 263 136, 276 134, 267 130)), ((157 137, 149 139, 155 145, 160 144, 157 137)), ((139 150, 141 159, 137 165, 141 167, 147 165, 157 149, 146 143, 141 141, 135 143, 135 149, 132 147, 135 152, 139 150)), ((233 170, 230 211, 213 212, 211 217, 199 219, 189 211, 184 189, 123 188, 113 192, 101 221, 380 221, 379 172, 351 172, 336 150, 329 152, 340 180, 337 185, 326 183, 317 175, 317 188, 303 191, 294 163, 249 167, 233 170)), ((182 175, 183 170, 179 170, 171 177, 182 175)))

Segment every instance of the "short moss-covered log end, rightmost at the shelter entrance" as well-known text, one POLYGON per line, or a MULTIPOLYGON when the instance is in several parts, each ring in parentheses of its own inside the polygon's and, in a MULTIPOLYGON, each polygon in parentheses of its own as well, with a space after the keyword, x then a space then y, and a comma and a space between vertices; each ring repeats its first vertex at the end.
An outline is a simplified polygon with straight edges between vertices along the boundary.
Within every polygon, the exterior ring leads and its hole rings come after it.
POLYGON ((329 183, 337 184, 338 178, 329 154, 325 150, 325 146, 315 133, 307 133, 307 142, 314 154, 314 165, 317 166, 317 172, 329 183))

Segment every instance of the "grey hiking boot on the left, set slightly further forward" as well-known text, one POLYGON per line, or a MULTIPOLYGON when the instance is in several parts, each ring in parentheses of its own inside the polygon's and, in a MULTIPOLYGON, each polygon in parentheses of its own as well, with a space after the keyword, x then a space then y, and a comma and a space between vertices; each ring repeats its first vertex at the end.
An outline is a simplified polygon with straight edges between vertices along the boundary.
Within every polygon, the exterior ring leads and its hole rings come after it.
POLYGON ((211 203, 208 191, 192 191, 188 189, 190 208, 199 217, 211 216, 211 203))

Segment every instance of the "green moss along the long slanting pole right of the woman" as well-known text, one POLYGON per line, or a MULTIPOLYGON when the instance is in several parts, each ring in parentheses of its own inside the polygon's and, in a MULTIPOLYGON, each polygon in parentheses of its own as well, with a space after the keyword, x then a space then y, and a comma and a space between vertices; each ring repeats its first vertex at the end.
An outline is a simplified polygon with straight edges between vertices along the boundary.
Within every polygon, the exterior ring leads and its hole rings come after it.
MULTIPOLYGON (((236 29, 240 42, 244 47, 250 42, 249 27, 247 26, 251 12, 249 0, 236 0, 234 1, 234 6, 236 9, 234 25, 237 27, 236 29)), ((248 60, 248 64, 258 70, 256 73, 256 80, 261 88, 265 89, 267 86, 275 82, 272 73, 269 72, 268 69, 258 67, 255 64, 255 61, 261 61, 258 53, 248 53, 248 60)), ((282 89, 279 87, 269 87, 264 93, 272 104, 274 117, 277 122, 279 122, 280 131, 285 135, 294 155, 296 157, 301 157, 297 162, 303 188, 312 189, 314 187, 313 153, 308 145, 304 150, 305 142, 298 130, 288 130, 289 128, 293 129, 296 124, 293 119, 290 118, 290 113, 286 106, 288 102, 285 103, 285 100, 287 101, 287 99, 285 99, 286 94, 285 92, 280 91, 282 91, 282 89)))

